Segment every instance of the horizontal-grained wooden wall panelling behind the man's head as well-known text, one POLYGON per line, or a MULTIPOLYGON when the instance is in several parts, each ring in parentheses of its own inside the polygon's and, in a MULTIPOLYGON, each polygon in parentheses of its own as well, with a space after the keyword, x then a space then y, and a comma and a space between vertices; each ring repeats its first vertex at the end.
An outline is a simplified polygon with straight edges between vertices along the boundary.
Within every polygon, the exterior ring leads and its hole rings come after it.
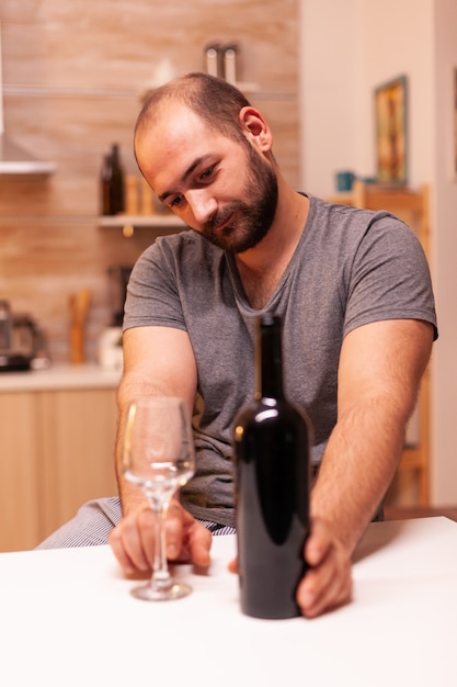
POLYGON ((298 183, 297 0, 2 0, 4 120, 9 136, 58 165, 45 178, 0 176, 0 297, 47 333, 68 360, 68 301, 92 290, 88 358, 110 322, 107 269, 133 264, 155 239, 96 227, 102 155, 121 144, 127 171, 140 93, 162 60, 204 68, 209 41, 235 41, 240 77, 275 134, 275 155, 298 183))

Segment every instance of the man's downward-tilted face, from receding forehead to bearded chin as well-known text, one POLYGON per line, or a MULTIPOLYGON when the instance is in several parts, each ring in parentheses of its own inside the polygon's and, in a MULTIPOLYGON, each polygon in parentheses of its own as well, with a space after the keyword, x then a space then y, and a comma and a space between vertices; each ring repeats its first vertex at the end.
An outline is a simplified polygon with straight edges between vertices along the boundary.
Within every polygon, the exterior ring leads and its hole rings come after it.
POLYGON ((137 135, 136 154, 162 202, 219 248, 243 252, 269 232, 277 179, 248 139, 229 139, 179 105, 137 135))

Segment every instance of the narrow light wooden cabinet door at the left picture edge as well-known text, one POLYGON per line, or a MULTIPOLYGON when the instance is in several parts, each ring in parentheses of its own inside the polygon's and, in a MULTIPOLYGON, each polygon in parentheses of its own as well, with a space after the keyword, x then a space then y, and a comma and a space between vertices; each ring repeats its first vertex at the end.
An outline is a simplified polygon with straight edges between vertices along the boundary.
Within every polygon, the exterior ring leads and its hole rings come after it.
POLYGON ((0 394, 0 551, 39 540, 39 446, 34 395, 0 394))

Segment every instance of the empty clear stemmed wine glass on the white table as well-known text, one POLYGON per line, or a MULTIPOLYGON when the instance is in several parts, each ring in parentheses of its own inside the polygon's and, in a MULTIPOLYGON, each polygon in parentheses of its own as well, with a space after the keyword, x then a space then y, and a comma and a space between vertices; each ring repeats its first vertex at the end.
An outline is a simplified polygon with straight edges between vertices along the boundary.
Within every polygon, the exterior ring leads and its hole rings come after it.
POLYGON ((164 522, 170 499, 194 474, 191 420, 182 398, 147 396, 130 404, 124 436, 123 472, 142 487, 156 517, 152 577, 132 594, 161 601, 187 596, 192 588, 170 576, 164 522))

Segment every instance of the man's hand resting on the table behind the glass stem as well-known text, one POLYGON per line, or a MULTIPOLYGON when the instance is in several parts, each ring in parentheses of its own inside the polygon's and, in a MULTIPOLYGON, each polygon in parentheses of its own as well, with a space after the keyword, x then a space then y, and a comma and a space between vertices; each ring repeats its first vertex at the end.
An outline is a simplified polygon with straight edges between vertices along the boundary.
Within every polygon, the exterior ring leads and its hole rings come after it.
MULTIPOLYGON (((167 525, 167 558, 170 561, 209 565, 212 533, 176 502, 170 504, 167 525)), ((110 534, 110 544, 125 574, 153 566, 155 515, 141 505, 126 515, 110 534)))

